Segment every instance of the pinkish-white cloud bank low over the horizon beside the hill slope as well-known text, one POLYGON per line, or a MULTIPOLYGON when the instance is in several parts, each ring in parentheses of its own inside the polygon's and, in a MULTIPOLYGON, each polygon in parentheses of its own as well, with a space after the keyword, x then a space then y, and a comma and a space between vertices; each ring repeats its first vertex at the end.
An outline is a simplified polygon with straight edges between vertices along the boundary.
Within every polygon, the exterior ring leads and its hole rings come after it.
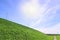
POLYGON ((47 34, 60 34, 60 23, 52 26, 52 27, 46 27, 46 28, 41 28, 41 29, 37 29, 42 31, 43 33, 47 33, 47 34))

